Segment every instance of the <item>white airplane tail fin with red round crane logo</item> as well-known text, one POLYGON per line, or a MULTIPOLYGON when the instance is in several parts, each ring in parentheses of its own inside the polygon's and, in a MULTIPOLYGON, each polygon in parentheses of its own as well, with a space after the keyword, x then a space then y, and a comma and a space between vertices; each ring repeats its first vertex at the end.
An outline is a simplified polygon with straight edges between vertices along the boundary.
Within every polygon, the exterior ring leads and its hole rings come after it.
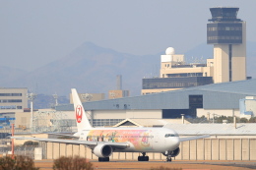
POLYGON ((78 132, 82 130, 90 130, 92 126, 87 118, 85 109, 81 103, 81 100, 78 96, 78 92, 76 88, 71 88, 73 102, 74 102, 74 110, 75 110, 75 118, 77 121, 78 132))

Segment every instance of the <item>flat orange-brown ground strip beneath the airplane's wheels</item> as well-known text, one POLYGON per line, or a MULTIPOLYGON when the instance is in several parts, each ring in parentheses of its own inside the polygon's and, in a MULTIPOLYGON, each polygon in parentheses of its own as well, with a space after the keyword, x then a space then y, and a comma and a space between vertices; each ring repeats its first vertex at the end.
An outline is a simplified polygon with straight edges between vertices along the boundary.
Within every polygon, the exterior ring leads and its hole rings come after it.
MULTIPOLYGON (((172 162, 165 161, 122 161, 111 160, 109 162, 97 162, 91 161, 95 169, 102 170, 150 170, 151 168, 182 168, 189 170, 251 170, 256 169, 256 161, 180 161, 174 160, 172 162)), ((52 169, 53 160, 35 160, 35 167, 39 167, 40 170, 52 169)))

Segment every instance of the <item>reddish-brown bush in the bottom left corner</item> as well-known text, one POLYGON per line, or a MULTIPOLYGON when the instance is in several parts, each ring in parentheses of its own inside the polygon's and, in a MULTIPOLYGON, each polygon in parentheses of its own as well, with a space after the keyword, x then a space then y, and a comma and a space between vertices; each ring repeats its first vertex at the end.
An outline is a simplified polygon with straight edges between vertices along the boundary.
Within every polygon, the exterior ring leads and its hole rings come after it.
POLYGON ((0 158, 0 170, 38 170, 33 164, 32 158, 18 155, 14 159, 11 157, 0 158))

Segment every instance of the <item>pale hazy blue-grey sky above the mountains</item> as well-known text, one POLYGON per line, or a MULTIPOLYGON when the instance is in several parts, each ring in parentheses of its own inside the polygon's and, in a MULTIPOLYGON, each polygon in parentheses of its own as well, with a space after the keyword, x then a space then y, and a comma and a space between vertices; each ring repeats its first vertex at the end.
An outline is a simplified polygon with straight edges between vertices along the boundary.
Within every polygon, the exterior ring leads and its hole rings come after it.
POLYGON ((239 7, 256 41, 256 0, 0 0, 0 65, 32 71, 85 41, 131 54, 206 42, 210 7, 239 7))

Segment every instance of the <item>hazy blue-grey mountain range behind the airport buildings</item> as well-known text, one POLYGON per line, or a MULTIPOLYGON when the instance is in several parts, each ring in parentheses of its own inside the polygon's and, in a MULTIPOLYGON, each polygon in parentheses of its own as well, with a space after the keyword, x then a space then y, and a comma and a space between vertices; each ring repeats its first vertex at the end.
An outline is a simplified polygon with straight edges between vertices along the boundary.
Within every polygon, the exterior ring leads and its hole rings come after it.
MULTIPOLYGON (((247 75, 256 77, 256 42, 247 42, 247 75)), ((28 87, 33 92, 68 96, 70 88, 81 93, 107 93, 116 89, 116 75, 122 75, 123 89, 140 95, 142 79, 159 75, 161 51, 153 55, 132 55, 85 42, 60 60, 32 72, 0 67, 1 86, 28 87)), ((202 43, 185 53, 186 60, 212 58, 213 46, 202 43)), ((107 98, 107 96, 106 96, 107 98)))

